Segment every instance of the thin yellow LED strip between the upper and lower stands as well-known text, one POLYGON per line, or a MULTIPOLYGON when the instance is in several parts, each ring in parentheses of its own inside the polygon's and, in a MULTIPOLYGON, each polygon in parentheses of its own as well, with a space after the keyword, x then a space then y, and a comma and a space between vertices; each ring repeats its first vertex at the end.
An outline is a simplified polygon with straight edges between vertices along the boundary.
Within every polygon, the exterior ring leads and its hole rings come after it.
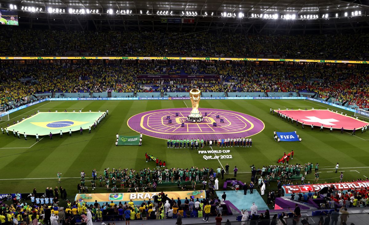
POLYGON ((94 60, 94 59, 127 59, 127 60, 220 60, 220 61, 279 61, 279 62, 308 62, 308 63, 350 63, 350 64, 367 64, 362 60, 324 60, 324 59, 269 59, 269 58, 237 58, 237 57, 165 57, 165 56, 1 56, 0 60, 94 60))

